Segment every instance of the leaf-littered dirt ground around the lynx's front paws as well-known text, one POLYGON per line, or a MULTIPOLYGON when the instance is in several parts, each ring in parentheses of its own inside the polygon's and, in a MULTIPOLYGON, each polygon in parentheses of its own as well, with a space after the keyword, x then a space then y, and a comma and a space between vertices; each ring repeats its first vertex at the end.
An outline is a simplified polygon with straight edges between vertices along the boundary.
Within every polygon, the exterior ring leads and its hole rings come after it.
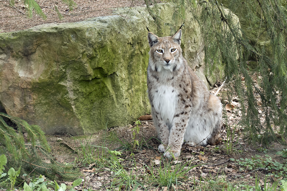
MULTIPOLYGON (((232 113, 230 113, 231 115, 232 113)), ((187 180, 184 184, 178 185, 173 190, 198 190, 200 184, 194 181, 209 182, 214 180, 218 185, 230 183, 230 184, 245 184, 254 186, 255 179, 263 182, 265 180, 265 174, 269 172, 262 169, 248 170, 245 167, 239 166, 238 162, 231 161, 230 158, 240 159, 255 157, 260 155, 265 157, 266 154, 272 157, 280 163, 286 163, 283 157, 276 155, 277 151, 282 151, 286 146, 279 143, 274 143, 265 147, 265 145, 248 145, 243 141, 241 137, 241 130, 234 131, 233 134, 233 153, 228 153, 226 149, 227 134, 226 129, 222 127, 220 140, 217 141, 216 145, 208 145, 206 147, 191 147, 189 145, 183 145, 181 149, 181 155, 175 160, 166 159, 162 153, 158 152, 157 147, 159 141, 156 139, 156 130, 152 121, 142 121, 139 134, 136 136, 137 140, 142 138, 147 141, 146 145, 149 147, 142 146, 136 151, 122 151, 123 145, 119 140, 126 143, 132 142, 133 129, 136 125, 127 125, 125 127, 117 127, 114 129, 103 130, 87 137, 48 137, 49 143, 52 145, 53 153, 58 161, 61 162, 73 162, 75 157, 78 157, 74 151, 81 150, 81 144, 108 147, 110 150, 117 149, 122 154, 119 156, 121 165, 123 168, 131 173, 135 174, 138 180, 144 180, 144 177, 151 176, 149 174, 150 168, 154 168, 154 171, 158 170, 159 166, 166 165, 166 163, 172 164, 172 168, 176 168, 176 164, 189 164, 195 166, 189 172, 185 174, 187 180), (117 138, 116 138, 117 137, 117 138), (133 160, 131 160, 131 152, 133 152, 133 160), (198 165, 198 166, 196 166, 198 165), (140 170, 135 170, 135 168, 140 170), (156 169, 156 170, 155 170, 156 169), (142 176, 142 179, 140 177, 142 176)), ((141 141, 140 141, 141 142, 141 141)), ((140 144, 141 145, 141 144, 140 144)), ((145 144, 144 144, 145 145, 145 144)), ((96 147, 94 147, 96 152, 96 147)), ((82 158, 84 159, 84 157, 82 158)), ((109 168, 98 168, 95 163, 92 164, 78 164, 81 172, 83 173, 82 178, 85 180, 85 185, 80 185, 77 189, 82 190, 84 188, 90 188, 92 190, 106 190, 110 189, 111 182, 115 181, 115 172, 109 168)), ((282 178, 282 177, 281 177, 282 178)), ((277 180, 274 176, 267 178, 267 184, 273 183, 277 180)), ((65 182, 69 184, 69 182, 65 182)), ((71 183, 70 183, 71 184, 71 183)), ((158 185, 145 185, 147 190, 159 191, 165 188, 158 187, 158 185)), ((263 184, 262 184, 263 186, 263 184)), ((262 187, 261 186, 261 187, 262 187)), ((211 187, 201 188, 202 190, 211 189, 211 187)), ((117 188, 114 188, 117 190, 117 188)), ((112 189, 112 190, 114 190, 112 189)), ((119 189, 119 188, 118 188, 119 189)), ((132 189, 131 189, 132 190, 132 189)), ((138 189, 145 190, 145 189, 138 189)))

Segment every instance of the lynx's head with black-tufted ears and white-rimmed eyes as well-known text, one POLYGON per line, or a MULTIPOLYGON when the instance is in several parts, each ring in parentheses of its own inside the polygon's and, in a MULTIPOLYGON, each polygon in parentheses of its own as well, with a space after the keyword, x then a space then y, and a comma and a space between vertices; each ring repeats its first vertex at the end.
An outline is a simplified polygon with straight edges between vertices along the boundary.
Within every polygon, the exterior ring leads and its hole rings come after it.
POLYGON ((148 32, 148 43, 150 45, 149 64, 152 70, 160 72, 162 68, 171 72, 178 70, 182 63, 181 29, 174 35, 158 37, 148 32))

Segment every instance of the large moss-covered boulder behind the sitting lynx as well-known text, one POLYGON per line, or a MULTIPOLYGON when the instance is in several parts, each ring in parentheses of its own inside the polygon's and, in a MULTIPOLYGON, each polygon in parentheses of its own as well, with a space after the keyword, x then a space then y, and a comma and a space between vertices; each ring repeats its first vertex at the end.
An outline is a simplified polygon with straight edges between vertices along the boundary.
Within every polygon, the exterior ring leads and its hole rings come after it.
MULTIPOLYGON (((170 5, 159 9, 171 21, 170 5)), ((144 7, 114 14, 1 33, 1 111, 50 135, 92 133, 149 113, 146 26, 158 36, 170 35, 170 27, 156 30, 144 7)), ((183 27, 182 48, 207 83, 197 23, 183 27)))

